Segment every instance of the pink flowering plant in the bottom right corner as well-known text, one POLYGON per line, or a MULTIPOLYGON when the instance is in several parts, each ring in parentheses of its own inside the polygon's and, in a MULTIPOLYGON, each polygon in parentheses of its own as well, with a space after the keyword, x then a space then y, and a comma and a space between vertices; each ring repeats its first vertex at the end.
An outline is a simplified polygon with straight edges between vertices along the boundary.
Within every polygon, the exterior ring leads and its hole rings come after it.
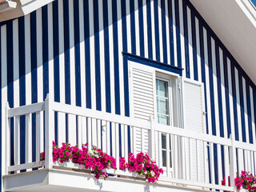
POLYGON ((241 190, 242 187, 249 192, 256 191, 256 176, 242 170, 241 176, 234 178, 234 186, 236 186, 238 190, 241 190))

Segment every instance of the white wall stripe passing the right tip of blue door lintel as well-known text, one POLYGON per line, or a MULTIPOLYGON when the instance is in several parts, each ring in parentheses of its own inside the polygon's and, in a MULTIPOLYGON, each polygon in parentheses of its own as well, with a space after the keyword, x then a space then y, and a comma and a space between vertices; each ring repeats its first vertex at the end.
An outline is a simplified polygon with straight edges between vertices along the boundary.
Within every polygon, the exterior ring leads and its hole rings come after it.
POLYGON ((181 53, 182 53, 182 76, 186 77, 186 61, 185 61, 185 41, 184 41, 184 25, 183 25, 183 8, 182 1, 178 1, 179 8, 179 26, 180 26, 180 35, 181 35, 181 53))

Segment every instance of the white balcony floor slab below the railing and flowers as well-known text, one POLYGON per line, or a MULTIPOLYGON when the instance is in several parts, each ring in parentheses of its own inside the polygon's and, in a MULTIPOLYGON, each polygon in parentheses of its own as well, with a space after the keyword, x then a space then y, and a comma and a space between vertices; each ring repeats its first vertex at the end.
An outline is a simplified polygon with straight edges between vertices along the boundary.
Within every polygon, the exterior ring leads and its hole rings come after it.
POLYGON ((133 178, 114 178, 107 180, 95 179, 92 174, 74 172, 73 170, 35 170, 21 174, 4 176, 4 188, 6 191, 26 192, 82 192, 82 191, 206 191, 191 190, 182 186, 173 186, 172 183, 158 182, 150 184, 133 178))

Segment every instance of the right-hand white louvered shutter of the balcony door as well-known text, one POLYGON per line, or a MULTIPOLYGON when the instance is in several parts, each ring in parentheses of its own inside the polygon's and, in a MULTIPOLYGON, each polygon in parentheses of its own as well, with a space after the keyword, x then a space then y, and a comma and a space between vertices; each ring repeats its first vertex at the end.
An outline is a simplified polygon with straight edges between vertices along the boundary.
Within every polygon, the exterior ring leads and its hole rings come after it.
MULTIPOLYGON (((183 119, 184 129, 191 134, 203 133, 203 98, 202 84, 190 80, 183 81, 183 119)), ((205 170, 202 165, 204 159, 204 144, 194 139, 186 139, 186 167, 190 167, 191 173, 186 172, 191 180, 204 181, 205 170), (198 142, 198 143, 196 143, 198 142), (198 153, 197 153, 198 150, 198 153), (200 164, 198 164, 200 162, 200 164)), ((188 170, 190 170, 188 169, 188 170)))

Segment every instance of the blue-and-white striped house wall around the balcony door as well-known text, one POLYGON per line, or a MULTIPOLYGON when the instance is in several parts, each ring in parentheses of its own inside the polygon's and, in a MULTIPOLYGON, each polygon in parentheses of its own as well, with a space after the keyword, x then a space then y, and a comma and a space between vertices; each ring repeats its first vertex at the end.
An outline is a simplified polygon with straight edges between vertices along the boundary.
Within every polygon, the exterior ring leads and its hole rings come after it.
POLYGON ((125 52, 204 82, 207 134, 255 143, 255 85, 187 0, 55 0, 0 26, 2 127, 6 102, 24 106, 47 93, 130 116, 125 52))

